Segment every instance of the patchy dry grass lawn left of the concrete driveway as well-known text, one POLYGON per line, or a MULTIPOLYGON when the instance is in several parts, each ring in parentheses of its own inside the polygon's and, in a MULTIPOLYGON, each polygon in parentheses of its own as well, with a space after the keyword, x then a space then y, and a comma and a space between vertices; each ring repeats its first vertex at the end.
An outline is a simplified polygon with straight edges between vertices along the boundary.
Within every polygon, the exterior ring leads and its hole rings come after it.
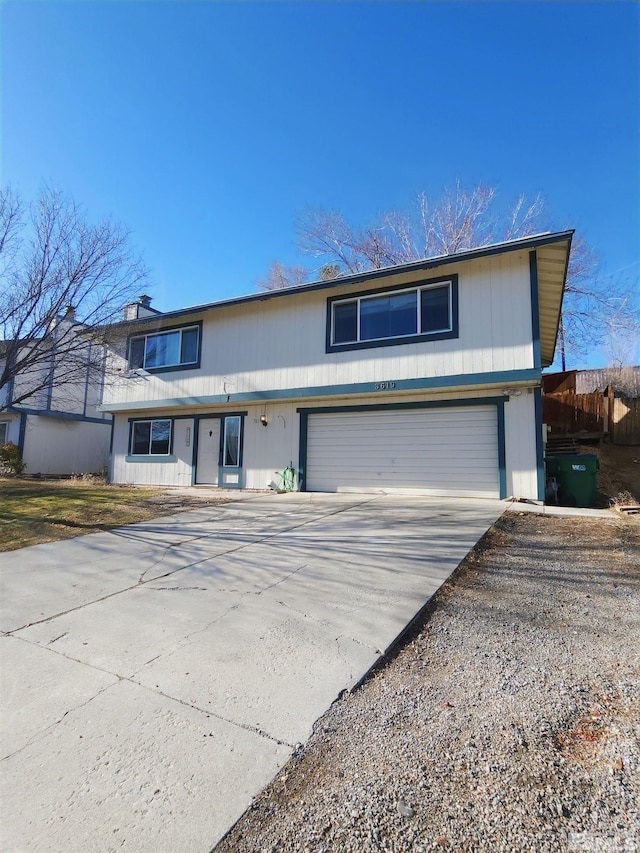
POLYGON ((176 509, 158 501, 163 491, 109 486, 91 480, 0 477, 0 551, 70 539, 145 521, 176 509))

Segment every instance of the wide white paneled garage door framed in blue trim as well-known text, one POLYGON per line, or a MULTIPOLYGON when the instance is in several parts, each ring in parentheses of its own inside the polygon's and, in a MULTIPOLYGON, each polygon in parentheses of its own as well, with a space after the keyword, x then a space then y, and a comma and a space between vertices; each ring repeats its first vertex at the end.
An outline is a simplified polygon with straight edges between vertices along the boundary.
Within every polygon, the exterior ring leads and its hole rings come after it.
POLYGON ((309 413, 306 489, 499 497, 495 406, 309 413))

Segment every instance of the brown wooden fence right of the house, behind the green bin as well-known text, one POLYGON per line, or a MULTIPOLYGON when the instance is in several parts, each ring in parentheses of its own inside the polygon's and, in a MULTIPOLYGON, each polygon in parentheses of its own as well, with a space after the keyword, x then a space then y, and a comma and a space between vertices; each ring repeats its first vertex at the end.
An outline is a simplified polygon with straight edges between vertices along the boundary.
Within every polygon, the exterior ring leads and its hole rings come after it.
POLYGON ((543 421, 552 435, 609 434, 613 444, 640 444, 640 398, 560 391, 543 397, 543 421))

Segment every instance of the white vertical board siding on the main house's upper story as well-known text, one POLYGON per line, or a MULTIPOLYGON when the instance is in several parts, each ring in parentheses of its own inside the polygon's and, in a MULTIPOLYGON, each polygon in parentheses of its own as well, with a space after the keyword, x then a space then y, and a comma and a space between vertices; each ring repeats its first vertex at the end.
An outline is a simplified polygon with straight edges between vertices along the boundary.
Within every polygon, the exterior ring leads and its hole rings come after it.
MULTIPOLYGON (((202 315, 199 369, 123 377, 105 389, 105 403, 533 367, 528 252, 457 264, 427 277, 453 273, 459 276, 457 339, 326 353, 327 298, 358 292, 364 285, 265 299, 202 315)), ((397 279, 390 276, 377 284, 384 290, 397 279)), ((418 280, 413 276, 406 283, 418 280)))

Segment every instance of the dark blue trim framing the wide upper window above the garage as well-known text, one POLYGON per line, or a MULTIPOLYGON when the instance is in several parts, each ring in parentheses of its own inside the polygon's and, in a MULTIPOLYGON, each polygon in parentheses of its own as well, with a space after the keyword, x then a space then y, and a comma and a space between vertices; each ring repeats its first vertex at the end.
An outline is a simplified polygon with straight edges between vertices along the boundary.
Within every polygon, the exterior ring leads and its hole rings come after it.
POLYGON ((325 352, 351 352, 358 349, 373 349, 374 347, 397 347, 405 344, 418 344, 425 341, 444 341, 459 337, 458 327, 458 275, 452 275, 421 279, 420 281, 410 282, 408 284, 396 284, 392 287, 384 288, 369 288, 368 290, 359 290, 357 293, 340 294, 329 296, 327 298, 327 319, 326 319, 326 338, 325 352), (345 344, 334 344, 331 340, 331 332, 333 328, 333 305, 335 302, 352 302, 356 299, 361 299, 367 296, 385 296, 388 293, 394 293, 399 290, 418 291, 421 287, 437 286, 438 284, 451 285, 451 329, 444 332, 423 332, 417 335, 405 335, 397 338, 380 338, 375 341, 357 341, 345 344))

